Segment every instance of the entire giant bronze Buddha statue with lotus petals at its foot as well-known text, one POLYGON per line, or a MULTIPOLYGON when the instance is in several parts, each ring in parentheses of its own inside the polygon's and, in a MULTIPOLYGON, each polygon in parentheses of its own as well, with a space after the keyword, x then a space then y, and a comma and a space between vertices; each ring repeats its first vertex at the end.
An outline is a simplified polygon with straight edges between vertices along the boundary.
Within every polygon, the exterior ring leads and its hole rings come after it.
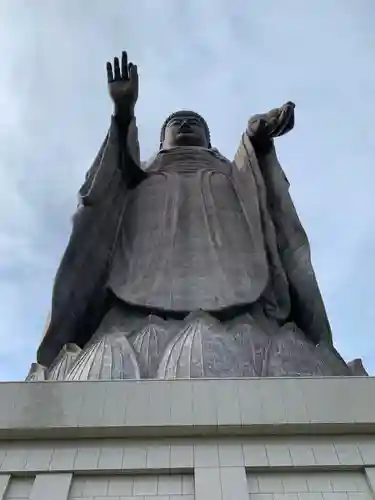
POLYGON ((114 115, 28 380, 354 373, 333 347, 276 157, 294 104, 250 118, 233 161, 202 117, 177 112, 142 164, 137 68, 123 53, 107 73, 114 115))

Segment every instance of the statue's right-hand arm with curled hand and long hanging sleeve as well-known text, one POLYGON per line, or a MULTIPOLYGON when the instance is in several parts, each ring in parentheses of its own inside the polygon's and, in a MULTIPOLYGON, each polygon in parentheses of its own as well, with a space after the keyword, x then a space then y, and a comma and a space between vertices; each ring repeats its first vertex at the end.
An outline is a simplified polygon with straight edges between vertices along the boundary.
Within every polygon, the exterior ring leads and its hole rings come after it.
MULTIPOLYGON (((277 159, 274 138, 294 126, 294 104, 250 118, 234 165, 242 175, 257 180, 263 214, 269 214, 277 252, 286 273, 291 297, 291 320, 315 343, 332 343, 319 286, 311 263, 310 246, 289 194, 289 182, 277 159)), ((267 218, 267 215, 266 215, 267 218)))

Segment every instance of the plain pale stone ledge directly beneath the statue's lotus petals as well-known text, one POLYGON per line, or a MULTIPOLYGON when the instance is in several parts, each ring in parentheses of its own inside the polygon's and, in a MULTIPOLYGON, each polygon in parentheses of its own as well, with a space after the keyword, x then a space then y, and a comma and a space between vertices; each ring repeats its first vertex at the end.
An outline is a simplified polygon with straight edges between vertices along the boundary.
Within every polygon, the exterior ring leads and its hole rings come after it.
POLYGON ((375 377, 0 383, 1 439, 375 434, 375 377))

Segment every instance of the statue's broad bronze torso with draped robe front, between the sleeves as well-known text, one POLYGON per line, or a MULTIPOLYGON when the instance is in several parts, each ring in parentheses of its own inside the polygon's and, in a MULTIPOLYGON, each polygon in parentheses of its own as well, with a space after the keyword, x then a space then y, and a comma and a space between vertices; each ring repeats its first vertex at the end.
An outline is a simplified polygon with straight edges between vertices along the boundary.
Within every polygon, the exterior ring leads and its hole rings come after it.
POLYGON ((231 169, 205 150, 161 155, 129 197, 109 280, 120 299, 174 311, 258 299, 267 282, 265 256, 231 169))

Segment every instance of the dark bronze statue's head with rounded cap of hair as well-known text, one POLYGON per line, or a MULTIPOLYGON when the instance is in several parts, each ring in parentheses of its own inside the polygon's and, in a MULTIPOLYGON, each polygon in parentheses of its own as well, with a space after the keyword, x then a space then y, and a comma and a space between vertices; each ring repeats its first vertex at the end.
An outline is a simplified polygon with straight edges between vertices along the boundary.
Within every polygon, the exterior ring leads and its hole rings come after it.
POLYGON ((165 120, 160 134, 160 148, 177 146, 211 148, 208 125, 198 113, 177 111, 165 120))

